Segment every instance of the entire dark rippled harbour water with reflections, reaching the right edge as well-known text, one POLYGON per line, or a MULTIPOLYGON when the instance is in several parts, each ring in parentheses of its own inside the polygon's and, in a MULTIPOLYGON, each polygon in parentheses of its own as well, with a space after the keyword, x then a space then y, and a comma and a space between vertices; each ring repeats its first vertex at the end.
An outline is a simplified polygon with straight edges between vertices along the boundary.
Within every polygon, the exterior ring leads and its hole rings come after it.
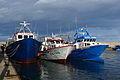
POLYGON ((104 63, 38 60, 32 64, 14 63, 14 67, 21 80, 120 80, 120 52, 105 51, 101 57, 104 63))

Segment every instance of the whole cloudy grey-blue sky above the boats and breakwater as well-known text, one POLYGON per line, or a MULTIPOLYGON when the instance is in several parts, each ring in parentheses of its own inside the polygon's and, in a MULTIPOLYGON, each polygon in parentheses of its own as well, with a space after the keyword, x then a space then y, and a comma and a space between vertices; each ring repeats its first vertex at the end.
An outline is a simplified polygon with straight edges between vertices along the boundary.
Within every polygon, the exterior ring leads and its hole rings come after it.
POLYGON ((74 34, 75 24, 87 24, 98 41, 120 41, 119 3, 120 0, 0 0, 0 41, 12 36, 24 20, 40 35, 47 30, 49 34, 74 34))

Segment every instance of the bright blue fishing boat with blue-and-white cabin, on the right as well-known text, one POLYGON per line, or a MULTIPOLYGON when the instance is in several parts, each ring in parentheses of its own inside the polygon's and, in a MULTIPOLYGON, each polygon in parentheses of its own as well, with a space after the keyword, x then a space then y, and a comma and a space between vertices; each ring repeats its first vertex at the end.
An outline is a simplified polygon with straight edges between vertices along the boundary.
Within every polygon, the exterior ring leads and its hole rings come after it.
POLYGON ((100 56, 108 45, 96 42, 96 37, 91 36, 86 27, 76 30, 74 37, 72 44, 76 49, 68 56, 68 60, 104 61, 100 56))

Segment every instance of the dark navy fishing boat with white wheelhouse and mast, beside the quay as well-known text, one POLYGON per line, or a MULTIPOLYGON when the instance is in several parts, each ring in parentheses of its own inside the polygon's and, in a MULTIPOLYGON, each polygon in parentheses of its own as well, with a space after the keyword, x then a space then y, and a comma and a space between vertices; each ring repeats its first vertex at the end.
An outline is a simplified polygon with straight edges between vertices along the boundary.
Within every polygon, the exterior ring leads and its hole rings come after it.
POLYGON ((6 53, 17 62, 34 62, 42 43, 35 39, 35 33, 31 32, 28 27, 29 23, 24 21, 20 24, 22 25, 20 30, 16 31, 8 41, 6 53))

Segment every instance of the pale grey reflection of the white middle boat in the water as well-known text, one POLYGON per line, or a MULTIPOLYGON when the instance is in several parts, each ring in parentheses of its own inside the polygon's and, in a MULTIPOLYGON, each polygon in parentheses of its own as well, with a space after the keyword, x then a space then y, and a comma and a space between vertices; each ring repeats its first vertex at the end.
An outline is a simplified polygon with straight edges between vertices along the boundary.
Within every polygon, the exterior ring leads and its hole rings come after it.
POLYGON ((49 80, 73 80, 65 64, 42 61, 42 66, 49 80))

